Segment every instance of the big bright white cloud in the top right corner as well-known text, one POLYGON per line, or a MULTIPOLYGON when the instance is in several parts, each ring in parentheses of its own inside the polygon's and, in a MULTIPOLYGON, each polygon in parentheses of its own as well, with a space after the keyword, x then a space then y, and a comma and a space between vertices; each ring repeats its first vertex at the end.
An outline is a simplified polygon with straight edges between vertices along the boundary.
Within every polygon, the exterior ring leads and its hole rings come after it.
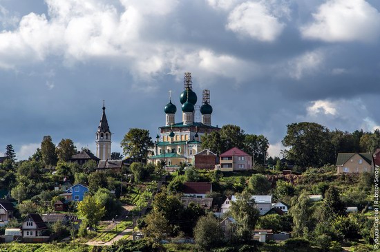
POLYGON ((380 13, 364 0, 330 0, 301 28, 303 37, 327 42, 374 41, 380 34, 380 13))

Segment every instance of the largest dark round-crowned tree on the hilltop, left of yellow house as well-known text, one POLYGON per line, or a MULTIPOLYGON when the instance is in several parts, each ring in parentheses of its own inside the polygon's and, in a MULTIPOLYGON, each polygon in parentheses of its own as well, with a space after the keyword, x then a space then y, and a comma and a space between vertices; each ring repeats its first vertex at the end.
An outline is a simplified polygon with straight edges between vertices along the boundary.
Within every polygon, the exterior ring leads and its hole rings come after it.
POLYGON ((330 131, 318 123, 292 123, 282 141, 285 157, 301 167, 322 167, 335 162, 330 131))

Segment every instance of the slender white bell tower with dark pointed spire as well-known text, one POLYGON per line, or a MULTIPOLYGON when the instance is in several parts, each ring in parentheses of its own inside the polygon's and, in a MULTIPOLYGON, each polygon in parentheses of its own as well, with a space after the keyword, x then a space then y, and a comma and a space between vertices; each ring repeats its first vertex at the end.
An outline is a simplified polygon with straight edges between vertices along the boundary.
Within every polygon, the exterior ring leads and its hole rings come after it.
POLYGON ((111 132, 106 117, 103 100, 103 114, 96 132, 96 156, 101 160, 111 159, 111 132))

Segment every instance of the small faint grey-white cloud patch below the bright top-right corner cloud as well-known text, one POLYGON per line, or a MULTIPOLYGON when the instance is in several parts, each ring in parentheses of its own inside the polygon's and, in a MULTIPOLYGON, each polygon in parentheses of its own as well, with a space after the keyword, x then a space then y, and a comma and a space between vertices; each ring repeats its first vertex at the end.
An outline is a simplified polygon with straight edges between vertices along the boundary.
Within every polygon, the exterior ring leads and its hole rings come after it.
POLYGON ((320 50, 305 52, 301 56, 297 56, 295 59, 289 61, 289 76, 299 80, 305 74, 315 72, 323 63, 324 58, 324 53, 320 50))

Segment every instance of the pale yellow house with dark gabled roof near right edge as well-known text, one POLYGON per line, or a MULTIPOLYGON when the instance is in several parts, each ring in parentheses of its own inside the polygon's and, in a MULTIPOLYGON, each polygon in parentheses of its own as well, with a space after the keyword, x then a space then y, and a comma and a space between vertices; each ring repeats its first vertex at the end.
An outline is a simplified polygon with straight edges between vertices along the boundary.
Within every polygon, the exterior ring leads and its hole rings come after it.
POLYGON ((362 174, 374 171, 374 161, 370 153, 339 153, 336 158, 338 174, 362 174))

